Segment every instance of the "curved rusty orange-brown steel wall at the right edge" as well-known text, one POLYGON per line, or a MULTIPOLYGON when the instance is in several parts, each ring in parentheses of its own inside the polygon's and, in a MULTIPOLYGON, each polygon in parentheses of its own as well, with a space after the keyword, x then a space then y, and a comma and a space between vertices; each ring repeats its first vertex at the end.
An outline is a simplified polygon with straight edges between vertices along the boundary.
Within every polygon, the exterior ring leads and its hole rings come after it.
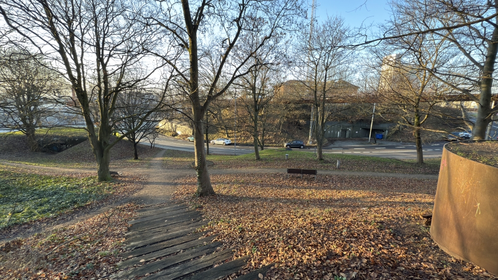
POLYGON ((451 256, 498 275, 498 168, 443 150, 430 233, 451 256))

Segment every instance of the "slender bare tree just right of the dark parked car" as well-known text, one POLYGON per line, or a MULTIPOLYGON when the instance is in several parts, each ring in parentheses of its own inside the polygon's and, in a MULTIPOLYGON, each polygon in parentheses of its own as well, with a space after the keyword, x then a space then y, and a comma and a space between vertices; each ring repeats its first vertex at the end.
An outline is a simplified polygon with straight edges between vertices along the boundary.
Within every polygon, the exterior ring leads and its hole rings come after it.
POLYGON ((322 146, 325 141, 325 122, 333 114, 327 109, 327 99, 338 95, 350 95, 355 92, 350 84, 340 80, 352 63, 353 50, 338 47, 347 44, 348 27, 339 17, 329 17, 316 26, 311 34, 300 34, 296 46, 296 75, 301 78, 303 92, 298 94, 313 106, 310 124, 317 142, 318 160, 323 160, 322 146), (337 82, 334 82, 336 79, 337 82))

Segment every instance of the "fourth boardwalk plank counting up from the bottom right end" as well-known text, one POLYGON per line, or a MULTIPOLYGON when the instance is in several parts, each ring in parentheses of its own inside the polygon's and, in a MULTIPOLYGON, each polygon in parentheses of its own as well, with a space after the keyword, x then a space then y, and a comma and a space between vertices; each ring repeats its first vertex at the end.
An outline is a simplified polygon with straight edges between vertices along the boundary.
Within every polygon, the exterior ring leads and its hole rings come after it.
MULTIPOLYGON (((133 279, 135 277, 143 276, 147 273, 153 273, 155 271, 163 270, 167 267, 179 264, 181 262, 185 262, 197 257, 200 257, 204 254, 209 254, 211 252, 214 252, 216 250, 216 247, 222 246, 220 242, 215 242, 215 243, 210 243, 205 246, 201 246, 168 258, 165 258, 163 260, 155 261, 149 264, 145 264, 141 267, 133 268, 128 271, 124 271, 123 273, 120 273, 117 275, 117 278, 119 279, 133 279)), ((230 252, 232 253, 232 252, 230 252)), ((189 263, 186 263, 189 264, 189 263)), ((213 263, 211 263, 212 265, 213 263)))

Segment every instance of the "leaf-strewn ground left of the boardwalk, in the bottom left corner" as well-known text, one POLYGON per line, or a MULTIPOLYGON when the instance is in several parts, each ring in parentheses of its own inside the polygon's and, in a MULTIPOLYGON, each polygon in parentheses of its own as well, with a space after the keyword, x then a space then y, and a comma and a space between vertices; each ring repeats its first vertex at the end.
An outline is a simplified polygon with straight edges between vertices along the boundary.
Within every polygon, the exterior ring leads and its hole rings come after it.
POLYGON ((125 204, 74 225, 0 245, 0 279, 106 279, 116 271, 137 206, 125 204))

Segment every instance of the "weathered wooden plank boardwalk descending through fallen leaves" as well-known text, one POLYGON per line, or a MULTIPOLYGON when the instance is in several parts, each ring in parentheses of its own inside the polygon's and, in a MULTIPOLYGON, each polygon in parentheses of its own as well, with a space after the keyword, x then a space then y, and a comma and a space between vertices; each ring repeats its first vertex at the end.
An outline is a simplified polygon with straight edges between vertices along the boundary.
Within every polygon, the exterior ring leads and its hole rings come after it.
MULTIPOLYGON (((234 255, 232 249, 215 252, 222 246, 213 242, 216 236, 203 237, 207 231, 194 233, 208 221, 183 204, 153 205, 138 212, 140 215, 128 222, 126 251, 118 263, 123 270, 111 279, 218 280, 237 273, 249 260, 246 256, 226 262, 234 255)), ((271 266, 237 279, 260 280, 259 274, 264 275, 271 266)))

